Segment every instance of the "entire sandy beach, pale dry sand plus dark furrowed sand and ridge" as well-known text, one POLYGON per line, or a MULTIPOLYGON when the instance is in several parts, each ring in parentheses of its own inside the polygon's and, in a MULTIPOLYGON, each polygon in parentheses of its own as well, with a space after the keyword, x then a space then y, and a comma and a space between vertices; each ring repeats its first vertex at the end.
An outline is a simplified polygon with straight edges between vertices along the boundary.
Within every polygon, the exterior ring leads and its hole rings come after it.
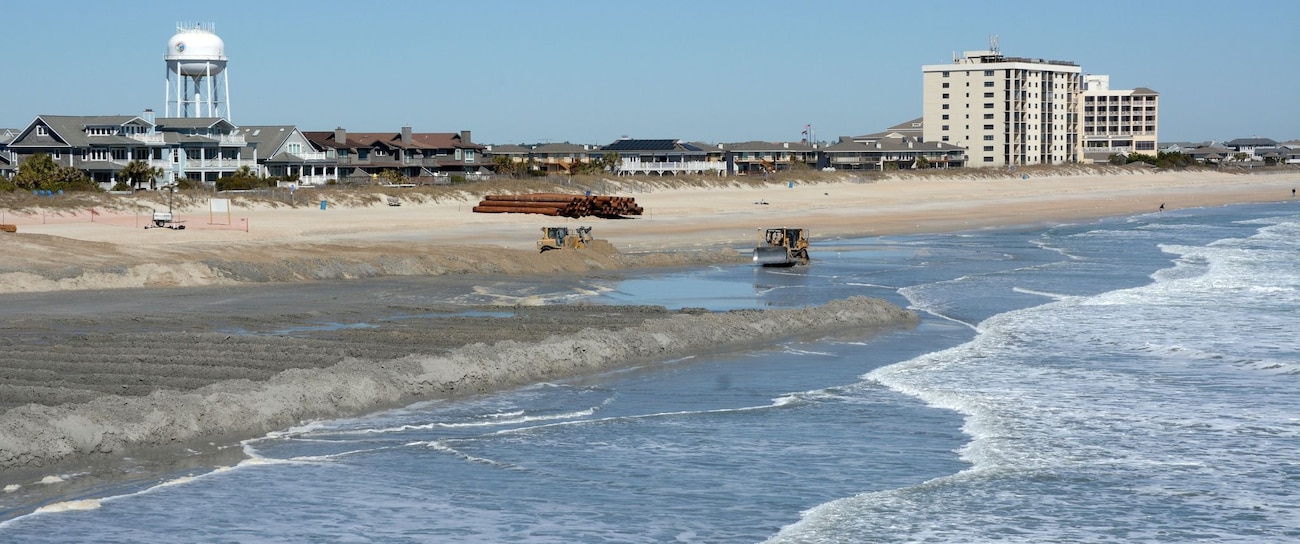
POLYGON ((321 207, 302 195, 311 206, 237 198, 225 217, 191 203, 178 210, 183 230, 144 229, 139 212, 8 211, 0 223, 18 232, 0 233, 0 487, 138 449, 218 449, 313 418, 742 349, 790 331, 916 319, 871 299, 710 314, 542 306, 528 297, 472 308, 499 314, 482 316, 452 303, 377 298, 370 281, 380 279, 436 276, 473 289, 502 276, 742 264, 764 226, 810 229, 815 260, 818 245, 835 238, 1278 202, 1296 185, 1294 169, 1109 167, 711 187, 610 180, 610 194, 634 198, 645 213, 473 213, 482 197, 473 191, 402 206, 321 207), (546 225, 590 225, 598 241, 538 254, 546 225), (398 329, 276 333, 384 312, 428 318, 398 329), (555 327, 526 327, 540 320, 555 327))

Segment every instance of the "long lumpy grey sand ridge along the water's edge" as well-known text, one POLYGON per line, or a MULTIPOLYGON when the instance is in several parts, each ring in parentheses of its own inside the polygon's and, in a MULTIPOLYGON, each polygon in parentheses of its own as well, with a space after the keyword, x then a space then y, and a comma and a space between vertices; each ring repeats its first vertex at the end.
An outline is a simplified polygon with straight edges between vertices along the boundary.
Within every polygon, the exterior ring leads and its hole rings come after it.
MULTIPOLYGON (((540 342, 473 344, 386 360, 344 358, 325 368, 286 370, 268 380, 224 380, 142 397, 105 394, 58 406, 30 403, 0 414, 0 471, 120 457, 136 448, 230 444, 311 419, 771 345, 792 331, 829 333, 916 320, 915 312, 863 297, 803 308, 664 312, 630 328, 589 328, 540 342)), ((220 349, 228 337, 194 333, 186 340, 202 351, 220 349)))

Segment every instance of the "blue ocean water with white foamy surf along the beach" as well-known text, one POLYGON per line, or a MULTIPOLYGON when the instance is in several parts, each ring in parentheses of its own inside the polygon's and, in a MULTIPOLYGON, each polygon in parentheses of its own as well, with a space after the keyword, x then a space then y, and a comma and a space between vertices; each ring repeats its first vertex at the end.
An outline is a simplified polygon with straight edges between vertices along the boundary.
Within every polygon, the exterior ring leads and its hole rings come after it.
POLYGON ((550 297, 870 295, 920 324, 315 422, 47 501, 0 541, 1300 541, 1300 202, 812 259, 550 297))

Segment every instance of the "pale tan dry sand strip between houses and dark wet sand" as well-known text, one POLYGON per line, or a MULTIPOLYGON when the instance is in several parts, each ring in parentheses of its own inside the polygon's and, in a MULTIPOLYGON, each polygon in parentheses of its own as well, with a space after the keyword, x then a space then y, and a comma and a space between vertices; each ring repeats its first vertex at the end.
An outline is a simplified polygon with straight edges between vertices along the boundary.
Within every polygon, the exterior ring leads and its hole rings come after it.
POLYGON ((0 294, 740 263, 748 260, 758 229, 767 226, 807 229, 815 251, 818 241, 845 237, 1075 223, 1154 213, 1161 206, 1174 211, 1278 202, 1291 199, 1300 185, 1300 169, 1088 172, 1035 173, 1027 180, 900 173, 867 182, 844 177, 793 186, 656 187, 610 181, 611 194, 633 197, 646 210, 621 220, 473 213, 469 208, 478 195, 467 193, 399 207, 244 203, 235 206, 239 217, 231 223, 256 225, 247 232, 203 225, 208 213, 192 208, 177 213, 191 217, 186 230, 90 219, 20 224, 17 236, 0 233, 8 242, 0 254, 0 294), (538 229, 547 225, 594 226, 597 245, 585 252, 538 255, 538 229))

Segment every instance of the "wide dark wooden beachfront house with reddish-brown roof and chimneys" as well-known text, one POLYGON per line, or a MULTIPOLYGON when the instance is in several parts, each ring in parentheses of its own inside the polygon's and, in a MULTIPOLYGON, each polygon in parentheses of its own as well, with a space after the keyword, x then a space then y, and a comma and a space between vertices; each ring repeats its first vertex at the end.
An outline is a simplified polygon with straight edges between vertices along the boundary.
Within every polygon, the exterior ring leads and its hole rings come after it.
POLYGON ((403 126, 396 133, 306 131, 313 144, 333 156, 339 181, 378 182, 386 170, 416 185, 450 184, 451 176, 476 178, 490 174, 485 146, 459 133, 415 133, 403 126))

